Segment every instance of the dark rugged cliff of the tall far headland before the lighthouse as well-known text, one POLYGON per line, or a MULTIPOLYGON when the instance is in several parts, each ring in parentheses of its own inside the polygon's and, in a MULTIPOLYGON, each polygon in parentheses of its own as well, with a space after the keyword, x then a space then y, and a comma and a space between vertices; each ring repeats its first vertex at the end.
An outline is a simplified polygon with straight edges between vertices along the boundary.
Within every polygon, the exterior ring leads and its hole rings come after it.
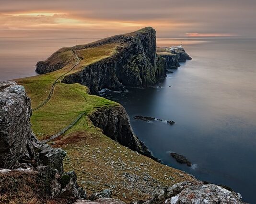
POLYGON ((88 86, 92 94, 108 88, 123 91, 125 87, 155 85, 158 78, 166 75, 166 61, 156 55, 156 32, 151 27, 116 35, 94 43, 62 48, 46 61, 36 64, 37 73, 48 73, 62 68, 65 63, 55 59, 60 52, 73 52, 105 44, 119 43, 116 54, 96 63, 84 66, 81 72, 67 75, 64 83, 80 83, 88 86), (56 62, 56 64, 55 64, 56 62))

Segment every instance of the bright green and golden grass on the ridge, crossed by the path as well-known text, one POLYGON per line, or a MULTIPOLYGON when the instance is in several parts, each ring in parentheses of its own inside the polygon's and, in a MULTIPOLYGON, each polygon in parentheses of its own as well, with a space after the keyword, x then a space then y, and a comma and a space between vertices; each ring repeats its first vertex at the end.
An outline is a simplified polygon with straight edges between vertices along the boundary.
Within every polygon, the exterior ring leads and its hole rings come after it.
MULTIPOLYGON (((70 50, 66 51, 68 48, 62 48, 61 50, 64 50, 64 54, 56 52, 52 54, 47 61, 52 59, 54 62, 58 63, 62 60, 72 59, 64 68, 44 75, 16 80, 18 84, 25 87, 28 96, 31 97, 32 108, 35 108, 47 99, 51 86, 55 80, 60 77, 58 83, 55 85, 50 100, 43 107, 33 111, 31 117, 32 129, 40 140, 44 140, 56 134, 61 129, 68 126, 81 113, 85 113, 86 116, 92 113, 94 108, 118 105, 103 97, 88 94, 88 88, 86 86, 60 82, 65 76, 65 73, 69 75, 79 72, 86 65, 115 54, 117 46, 118 44, 106 44, 99 47, 75 51, 78 57, 83 59, 71 71, 70 69, 77 61, 74 58, 73 52, 70 50)), ((74 130, 79 129, 81 129, 81 127, 76 126, 74 130)))

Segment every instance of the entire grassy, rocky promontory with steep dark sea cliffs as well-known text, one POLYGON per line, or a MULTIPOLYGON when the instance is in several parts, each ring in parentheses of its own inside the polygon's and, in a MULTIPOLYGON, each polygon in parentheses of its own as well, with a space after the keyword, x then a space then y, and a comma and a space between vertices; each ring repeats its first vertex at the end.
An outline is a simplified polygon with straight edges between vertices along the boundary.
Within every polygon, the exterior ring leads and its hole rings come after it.
MULTIPOLYGON (((186 172, 155 161, 134 135, 124 107, 92 95, 99 94, 103 88, 122 91, 128 87, 156 85, 158 78, 165 76, 169 59, 156 54, 155 39, 155 30, 147 27, 86 45, 61 48, 47 60, 37 63, 36 71, 41 75, 17 79, 19 85, 12 82, 0 86, 1 95, 7 96, 0 112, 3 127, 0 139, 7 146, 1 147, 4 151, 0 152, 0 158, 3 158, 1 167, 8 168, 0 172, 6 181, 5 188, 0 189, 7 191, 12 178, 24 176, 31 167, 31 172, 23 177, 28 182, 26 188, 29 182, 38 181, 33 175, 41 169, 56 169, 56 173, 43 177, 47 178, 47 195, 51 199, 67 199, 67 202, 88 197, 95 203, 123 204, 140 200, 140 203, 160 204, 168 199, 190 202, 193 192, 201 197, 205 191, 215 193, 218 186, 198 182, 186 172), (12 86, 18 88, 14 96, 12 86), (13 103, 20 102, 8 109, 5 104, 13 104, 8 97, 12 97, 13 103), (6 108, 13 115, 8 114, 6 108), (20 109, 20 112, 13 111, 20 109), (7 161, 9 156, 12 161, 7 161), (19 174, 15 176, 17 171, 19 174), (120 200, 99 199, 111 196, 120 200)), ((184 52, 173 54, 174 65, 184 60, 184 52)), ((45 184, 40 181, 33 186, 45 184)), ((23 186, 22 181, 18 182, 23 186)), ((31 192, 40 197, 45 192, 41 189, 35 187, 31 192)), ((11 195, 15 193, 15 189, 9 189, 6 199, 12 200, 11 195)), ((240 202, 239 194, 223 188, 213 196, 221 195, 221 200, 228 202, 223 193, 227 199, 240 202)))

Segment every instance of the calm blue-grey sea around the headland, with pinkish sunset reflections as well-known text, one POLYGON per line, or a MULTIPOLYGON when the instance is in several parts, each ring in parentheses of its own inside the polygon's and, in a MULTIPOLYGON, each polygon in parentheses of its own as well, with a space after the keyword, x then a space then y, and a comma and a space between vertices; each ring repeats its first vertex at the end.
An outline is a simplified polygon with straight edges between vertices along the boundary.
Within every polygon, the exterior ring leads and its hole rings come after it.
MULTIPOLYGON (((94 40, 0 39, 0 80, 35 75, 36 62, 58 48, 94 40)), ((256 203, 256 39, 157 41, 158 46, 181 42, 193 59, 157 87, 105 97, 126 108, 135 134, 164 164, 230 186, 256 203), (139 121, 135 115, 164 121, 139 121), (186 156, 192 167, 177 163, 171 151, 186 156)))

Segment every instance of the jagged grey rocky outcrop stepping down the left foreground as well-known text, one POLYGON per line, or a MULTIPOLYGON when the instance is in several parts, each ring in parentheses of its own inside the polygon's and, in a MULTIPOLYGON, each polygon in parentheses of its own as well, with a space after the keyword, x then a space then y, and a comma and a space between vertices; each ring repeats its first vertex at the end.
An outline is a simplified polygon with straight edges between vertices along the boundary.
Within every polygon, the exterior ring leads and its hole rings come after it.
POLYGON ((24 87, 12 81, 0 82, 0 173, 34 173, 46 183, 44 188, 51 197, 84 197, 75 172, 63 170, 66 152, 37 140, 31 130, 31 114, 24 87))

